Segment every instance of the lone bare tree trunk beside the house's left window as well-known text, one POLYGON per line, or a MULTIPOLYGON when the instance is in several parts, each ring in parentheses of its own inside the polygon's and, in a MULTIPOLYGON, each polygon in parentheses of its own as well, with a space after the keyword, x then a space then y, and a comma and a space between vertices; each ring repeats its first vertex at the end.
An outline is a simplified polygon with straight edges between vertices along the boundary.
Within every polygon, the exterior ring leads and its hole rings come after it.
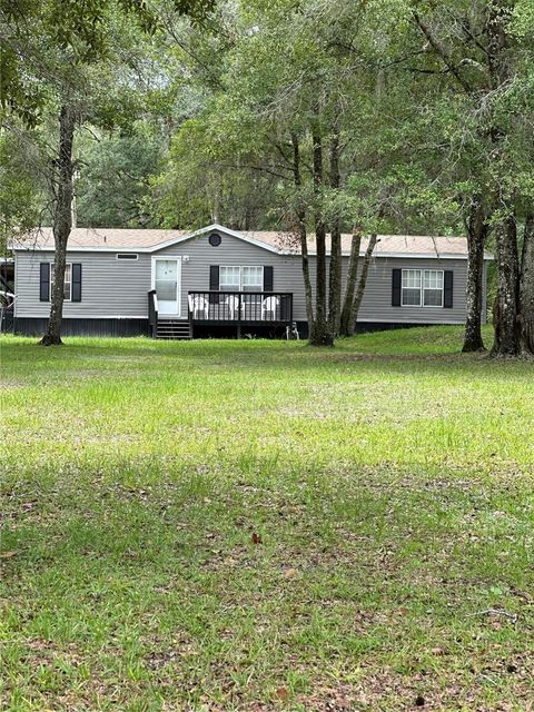
POLYGON ((59 154, 57 161, 58 184, 52 216, 55 241, 53 285, 50 295, 50 317, 41 339, 43 346, 61 344, 61 319, 63 316, 63 285, 67 264, 67 243, 72 228, 72 142, 75 115, 63 105, 59 116, 59 154))

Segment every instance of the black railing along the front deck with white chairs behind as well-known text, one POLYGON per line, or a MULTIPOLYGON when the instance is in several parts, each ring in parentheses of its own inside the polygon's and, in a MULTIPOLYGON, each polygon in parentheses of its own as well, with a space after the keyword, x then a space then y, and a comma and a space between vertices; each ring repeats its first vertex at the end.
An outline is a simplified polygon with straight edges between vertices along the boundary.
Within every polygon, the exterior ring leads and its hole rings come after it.
POLYGON ((290 323, 293 294, 287 291, 189 291, 191 322, 290 323))

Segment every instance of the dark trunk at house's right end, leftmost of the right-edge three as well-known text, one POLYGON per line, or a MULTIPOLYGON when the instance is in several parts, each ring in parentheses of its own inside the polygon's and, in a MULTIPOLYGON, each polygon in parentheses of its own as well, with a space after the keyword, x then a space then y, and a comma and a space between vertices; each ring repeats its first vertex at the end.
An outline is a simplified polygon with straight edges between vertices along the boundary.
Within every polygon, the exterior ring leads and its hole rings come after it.
POLYGON ((462 352, 485 350, 482 339, 482 291, 487 224, 479 196, 473 198, 467 225, 467 316, 462 352))

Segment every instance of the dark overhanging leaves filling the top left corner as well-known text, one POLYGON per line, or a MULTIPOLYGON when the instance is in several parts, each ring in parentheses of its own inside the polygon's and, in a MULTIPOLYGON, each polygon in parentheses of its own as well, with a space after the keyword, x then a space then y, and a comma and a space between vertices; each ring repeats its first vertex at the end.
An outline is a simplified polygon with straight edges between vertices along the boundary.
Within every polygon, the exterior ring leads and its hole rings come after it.
MULTIPOLYGON (((195 21, 212 9, 212 0, 174 0, 178 14, 195 21)), ((117 59, 121 33, 154 33, 160 27, 157 10, 146 0, 12 0, 0 1, 0 102, 34 126, 47 99, 41 83, 81 89, 77 70, 117 59), (119 33, 117 28, 120 27, 119 33)))

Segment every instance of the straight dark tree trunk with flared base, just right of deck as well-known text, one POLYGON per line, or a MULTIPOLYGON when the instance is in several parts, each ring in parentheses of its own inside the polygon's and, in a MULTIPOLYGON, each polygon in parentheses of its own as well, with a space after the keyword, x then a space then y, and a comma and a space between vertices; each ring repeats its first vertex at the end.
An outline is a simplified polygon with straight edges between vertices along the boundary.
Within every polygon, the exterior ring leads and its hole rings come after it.
POLYGON ((312 346, 333 346, 334 337, 328 326, 326 313, 326 226, 320 209, 320 191, 323 188, 323 140, 317 130, 313 132, 313 171, 314 190, 317 200, 315 207, 315 244, 316 244, 316 303, 315 319, 309 333, 312 346))

